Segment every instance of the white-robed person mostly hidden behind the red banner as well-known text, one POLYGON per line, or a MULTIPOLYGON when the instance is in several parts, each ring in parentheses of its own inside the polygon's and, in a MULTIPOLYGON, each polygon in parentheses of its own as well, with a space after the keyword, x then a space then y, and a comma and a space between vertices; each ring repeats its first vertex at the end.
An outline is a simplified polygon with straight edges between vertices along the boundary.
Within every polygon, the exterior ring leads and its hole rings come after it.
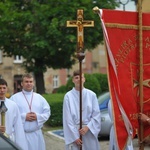
MULTIPOLYGON (((109 150, 119 150, 117 142, 116 142, 116 136, 115 136, 115 129, 114 129, 114 119, 113 119, 113 111, 112 111, 112 102, 111 99, 108 102, 108 113, 112 122, 112 126, 110 129, 110 135, 109 135, 109 150)), ((121 131, 120 131, 121 132, 121 131)), ((128 144, 125 148, 125 150, 133 150, 133 144, 132 141, 130 144, 128 144)))

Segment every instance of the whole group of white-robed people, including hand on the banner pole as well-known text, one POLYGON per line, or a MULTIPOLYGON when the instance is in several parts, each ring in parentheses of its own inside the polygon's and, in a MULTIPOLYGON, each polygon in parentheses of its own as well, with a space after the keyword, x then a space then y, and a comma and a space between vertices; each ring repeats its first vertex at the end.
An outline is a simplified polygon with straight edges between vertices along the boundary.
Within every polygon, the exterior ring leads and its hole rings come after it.
MULTIPOLYGON (((85 81, 84 73, 74 71, 72 77, 74 87, 64 96, 62 118, 66 150, 79 150, 80 147, 82 150, 100 150, 98 141, 101 130, 100 109, 96 94, 84 87, 85 81), (79 107, 80 100, 82 110, 79 107)), ((34 78, 31 74, 22 76, 21 87, 21 91, 8 99, 5 97, 8 90, 7 82, 0 79, 0 109, 6 106, 5 125, 2 125, 0 115, 0 132, 22 150, 45 150, 41 128, 51 115, 50 106, 42 95, 34 92, 34 78)), ((111 100, 108 108, 113 122, 111 100)), ((140 113, 139 120, 150 124, 150 118, 145 114, 140 113)), ((113 125, 110 131, 109 150, 118 150, 113 125)), ((126 145, 125 150, 133 150, 132 142, 126 145)))

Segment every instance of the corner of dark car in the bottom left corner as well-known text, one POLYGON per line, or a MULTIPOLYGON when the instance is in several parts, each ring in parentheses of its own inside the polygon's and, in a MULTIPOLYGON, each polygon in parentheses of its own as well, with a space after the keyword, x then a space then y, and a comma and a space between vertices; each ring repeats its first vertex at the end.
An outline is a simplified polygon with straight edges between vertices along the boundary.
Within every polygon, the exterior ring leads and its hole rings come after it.
POLYGON ((0 150, 22 150, 9 138, 0 133, 0 150))

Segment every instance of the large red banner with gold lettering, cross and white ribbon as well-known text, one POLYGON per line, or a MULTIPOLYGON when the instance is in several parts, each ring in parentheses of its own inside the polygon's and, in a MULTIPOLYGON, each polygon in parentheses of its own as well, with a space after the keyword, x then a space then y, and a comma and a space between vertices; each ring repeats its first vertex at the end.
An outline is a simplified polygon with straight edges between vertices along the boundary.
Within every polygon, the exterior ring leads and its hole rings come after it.
MULTIPOLYGON (((138 13, 100 10, 107 47, 108 76, 119 149, 138 129, 140 52, 138 13)), ((150 14, 143 13, 143 113, 150 116, 150 14)), ((144 137, 150 128, 144 127, 144 137)))

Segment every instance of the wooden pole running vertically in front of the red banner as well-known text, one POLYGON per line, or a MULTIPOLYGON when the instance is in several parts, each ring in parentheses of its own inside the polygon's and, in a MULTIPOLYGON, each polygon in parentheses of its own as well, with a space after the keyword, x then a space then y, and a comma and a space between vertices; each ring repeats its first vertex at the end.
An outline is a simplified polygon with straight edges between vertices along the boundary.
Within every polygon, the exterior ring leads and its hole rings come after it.
MULTIPOLYGON (((143 32, 142 32, 142 0, 138 0, 138 17, 139 17, 139 55, 140 55, 140 112, 143 113, 143 32)), ((139 120, 139 150, 144 150, 143 143, 143 123, 139 120)))

